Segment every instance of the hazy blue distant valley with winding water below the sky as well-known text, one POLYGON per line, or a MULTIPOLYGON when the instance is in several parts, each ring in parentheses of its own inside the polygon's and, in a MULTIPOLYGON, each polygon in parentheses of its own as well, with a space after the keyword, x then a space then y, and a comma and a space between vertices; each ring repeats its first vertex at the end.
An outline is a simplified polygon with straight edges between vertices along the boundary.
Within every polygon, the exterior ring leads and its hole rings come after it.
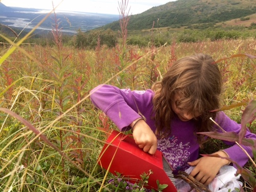
MULTIPOLYGON (((49 10, 7 7, 0 3, 0 24, 11 28, 29 30, 34 28, 49 12, 49 10)), ((88 31, 110 24, 117 21, 119 15, 56 11, 56 19, 54 13, 52 13, 38 27, 37 32, 45 33, 52 30, 56 22, 62 32, 74 34, 79 29, 88 31)))

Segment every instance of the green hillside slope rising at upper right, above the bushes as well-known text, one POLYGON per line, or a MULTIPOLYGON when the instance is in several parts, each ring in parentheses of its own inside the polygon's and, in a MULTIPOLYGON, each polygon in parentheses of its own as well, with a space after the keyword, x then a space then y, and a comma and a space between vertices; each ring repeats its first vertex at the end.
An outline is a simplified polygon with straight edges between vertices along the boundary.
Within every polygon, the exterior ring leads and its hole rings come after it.
MULTIPOLYGON (((256 13, 254 0, 178 0, 131 15, 128 29, 180 27, 193 24, 220 23, 256 13)), ((117 30, 119 22, 104 26, 117 30)))

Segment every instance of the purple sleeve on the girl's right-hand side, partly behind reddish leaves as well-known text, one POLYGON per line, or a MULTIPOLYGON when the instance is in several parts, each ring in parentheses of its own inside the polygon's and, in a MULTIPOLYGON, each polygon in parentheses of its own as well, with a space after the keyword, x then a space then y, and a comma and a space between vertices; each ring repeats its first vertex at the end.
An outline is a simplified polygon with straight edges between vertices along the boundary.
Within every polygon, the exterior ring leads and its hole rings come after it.
MULTIPOLYGON (((238 124, 236 121, 231 120, 224 112, 219 112, 216 118, 217 123, 226 131, 226 132, 236 132, 239 133, 241 130, 241 124, 238 124)), ((247 129, 245 138, 256 139, 256 135, 249 132, 247 129)), ((225 144, 232 145, 229 148, 226 148, 225 151, 229 158, 237 162, 240 166, 244 166, 248 161, 247 155, 242 151, 242 149, 235 143, 224 141, 225 144)), ((242 145, 242 147, 247 151, 247 153, 252 157, 252 148, 250 146, 242 145)), ((236 167, 236 165, 234 165, 236 167)))

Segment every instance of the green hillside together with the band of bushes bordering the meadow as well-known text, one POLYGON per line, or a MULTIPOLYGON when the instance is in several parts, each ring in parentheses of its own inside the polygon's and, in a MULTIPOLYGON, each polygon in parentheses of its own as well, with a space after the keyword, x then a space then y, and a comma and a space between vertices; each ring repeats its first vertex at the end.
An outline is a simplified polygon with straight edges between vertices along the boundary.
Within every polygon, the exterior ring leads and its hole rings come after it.
MULTIPOLYGON (((172 45, 173 42, 200 42, 220 39, 255 38, 256 4, 240 0, 179 0, 165 5, 153 7, 141 14, 131 15, 127 25, 127 44, 145 47, 148 45, 172 45), (233 25, 227 25, 234 19, 233 25), (249 23, 236 25, 239 22, 249 23)), ((10 30, 0 25, 0 31, 12 41, 18 34, 22 38, 26 33, 10 30)), ((105 45, 115 47, 120 41, 120 23, 114 22, 104 27, 82 32, 78 30, 74 36, 62 34, 62 44, 76 48, 95 49, 105 45)), ((7 43, 0 37, 1 42, 7 43)), ((26 43, 42 46, 54 46, 51 33, 36 34, 27 38, 26 43)))

